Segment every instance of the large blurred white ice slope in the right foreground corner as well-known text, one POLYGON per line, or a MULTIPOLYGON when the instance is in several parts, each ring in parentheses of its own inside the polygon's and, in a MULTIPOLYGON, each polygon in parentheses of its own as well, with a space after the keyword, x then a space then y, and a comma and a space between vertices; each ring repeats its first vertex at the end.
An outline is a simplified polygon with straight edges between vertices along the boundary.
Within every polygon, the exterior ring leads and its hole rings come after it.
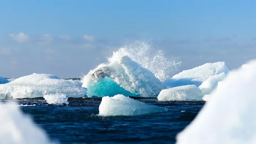
POLYGON ((193 122, 177 135, 177 144, 256 143, 256 61, 218 85, 193 122))

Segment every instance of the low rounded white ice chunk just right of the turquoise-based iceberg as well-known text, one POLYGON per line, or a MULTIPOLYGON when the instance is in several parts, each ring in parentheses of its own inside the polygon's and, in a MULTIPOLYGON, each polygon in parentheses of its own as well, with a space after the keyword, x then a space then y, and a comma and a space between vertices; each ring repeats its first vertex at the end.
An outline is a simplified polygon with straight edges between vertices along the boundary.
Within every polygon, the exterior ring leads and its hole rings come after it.
POLYGON ((159 101, 200 101, 202 97, 198 87, 187 85, 162 90, 157 99, 159 101))

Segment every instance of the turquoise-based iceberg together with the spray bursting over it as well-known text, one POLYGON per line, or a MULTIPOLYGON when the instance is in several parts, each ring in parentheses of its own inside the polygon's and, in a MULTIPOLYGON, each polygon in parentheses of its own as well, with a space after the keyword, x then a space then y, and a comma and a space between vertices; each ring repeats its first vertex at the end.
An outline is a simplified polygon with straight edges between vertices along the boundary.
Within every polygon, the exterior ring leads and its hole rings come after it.
POLYGON ((88 96, 157 97, 164 88, 161 81, 177 71, 180 64, 175 58, 167 58, 161 50, 154 49, 151 41, 137 39, 125 43, 113 52, 108 63, 100 64, 85 75, 82 87, 88 89, 88 96))

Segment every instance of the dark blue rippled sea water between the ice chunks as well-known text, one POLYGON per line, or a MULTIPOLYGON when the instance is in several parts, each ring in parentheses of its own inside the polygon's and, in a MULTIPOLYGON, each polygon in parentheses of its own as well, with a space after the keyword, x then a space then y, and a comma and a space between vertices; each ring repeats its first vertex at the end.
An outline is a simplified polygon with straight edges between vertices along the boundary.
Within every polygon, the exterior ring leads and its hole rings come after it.
MULTIPOLYGON (((70 100, 70 99, 69 99, 70 100)), ((174 144, 183 130, 199 112, 204 102, 158 102, 139 99, 148 104, 165 107, 164 113, 136 116, 101 117, 100 99, 71 99, 68 105, 48 105, 44 100, 16 100, 49 137, 61 144, 133 143, 174 144)))

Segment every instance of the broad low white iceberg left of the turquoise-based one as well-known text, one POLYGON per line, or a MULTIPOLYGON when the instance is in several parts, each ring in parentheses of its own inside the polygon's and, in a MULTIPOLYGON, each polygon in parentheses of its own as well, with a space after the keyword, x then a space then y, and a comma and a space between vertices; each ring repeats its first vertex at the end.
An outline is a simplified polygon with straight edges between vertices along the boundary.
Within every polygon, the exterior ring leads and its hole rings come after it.
POLYGON ((86 94, 86 88, 83 88, 80 83, 71 83, 48 74, 23 76, 0 85, 0 99, 36 98, 57 93, 70 97, 83 97, 86 94))

